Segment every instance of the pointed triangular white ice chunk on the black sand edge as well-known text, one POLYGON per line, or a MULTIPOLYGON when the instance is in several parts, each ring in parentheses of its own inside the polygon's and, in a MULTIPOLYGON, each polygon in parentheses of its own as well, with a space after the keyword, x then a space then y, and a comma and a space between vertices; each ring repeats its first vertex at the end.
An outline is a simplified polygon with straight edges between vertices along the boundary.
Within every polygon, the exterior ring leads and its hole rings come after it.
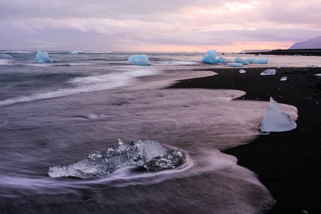
POLYGON ((295 129, 297 124, 289 115, 284 113, 278 103, 270 98, 270 107, 266 109, 259 128, 261 132, 284 132, 295 129))

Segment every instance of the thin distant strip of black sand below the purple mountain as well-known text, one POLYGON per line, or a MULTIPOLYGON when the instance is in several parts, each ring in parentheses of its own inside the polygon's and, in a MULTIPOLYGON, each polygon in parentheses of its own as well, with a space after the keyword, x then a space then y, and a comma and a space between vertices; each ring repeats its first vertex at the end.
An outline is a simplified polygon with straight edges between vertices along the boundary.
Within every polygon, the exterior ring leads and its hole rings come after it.
MULTIPOLYGON (((243 54, 243 53, 239 53, 243 54)), ((266 52, 248 52, 246 54, 261 54, 261 55, 301 55, 301 56, 321 56, 321 49, 280 49, 266 52)))

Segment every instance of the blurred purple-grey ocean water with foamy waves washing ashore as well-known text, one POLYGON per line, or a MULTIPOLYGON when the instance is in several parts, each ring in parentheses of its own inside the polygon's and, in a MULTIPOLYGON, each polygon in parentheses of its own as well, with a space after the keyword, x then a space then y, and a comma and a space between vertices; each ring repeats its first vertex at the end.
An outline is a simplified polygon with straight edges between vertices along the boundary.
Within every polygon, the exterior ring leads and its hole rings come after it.
MULTIPOLYGON (((0 58, 1 213, 265 213, 275 203, 255 172, 220 150, 259 134, 265 101, 234 100, 239 90, 169 89, 176 80, 213 75, 196 52, 2 51, 0 58), (146 54, 151 65, 127 63, 146 54), (53 178, 49 167, 76 163, 118 139, 153 139, 180 149, 175 169, 126 167, 101 179, 53 178)), ((218 56, 221 56, 218 54, 218 56)), ((222 55, 227 62, 243 56, 222 55)), ((268 64, 317 64, 313 56, 255 56, 268 64)), ((218 74, 219 75, 219 74, 218 74)), ((245 83, 246 84, 246 83, 245 83)), ((268 100, 266 100, 268 101, 268 100)), ((280 105, 292 118, 297 110, 280 105)))

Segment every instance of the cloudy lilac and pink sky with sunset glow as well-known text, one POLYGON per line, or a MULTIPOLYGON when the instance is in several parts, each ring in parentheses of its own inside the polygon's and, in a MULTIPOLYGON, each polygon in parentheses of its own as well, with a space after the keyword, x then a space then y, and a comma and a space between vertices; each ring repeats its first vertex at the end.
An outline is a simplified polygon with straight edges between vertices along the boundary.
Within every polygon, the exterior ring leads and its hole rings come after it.
POLYGON ((0 50, 287 49, 321 36, 321 0, 0 0, 0 50))

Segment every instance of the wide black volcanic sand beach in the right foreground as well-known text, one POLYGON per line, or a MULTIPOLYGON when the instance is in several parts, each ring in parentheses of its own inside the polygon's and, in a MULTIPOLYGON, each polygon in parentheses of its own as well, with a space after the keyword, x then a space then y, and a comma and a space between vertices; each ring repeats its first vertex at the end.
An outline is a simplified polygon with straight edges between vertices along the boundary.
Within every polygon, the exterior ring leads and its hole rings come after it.
POLYGON ((297 107, 296 129, 261 135, 223 152, 257 173, 277 201, 269 213, 321 213, 321 77, 314 76, 321 68, 279 68, 275 75, 260 75, 266 69, 208 69, 219 74, 182 80, 172 88, 236 89, 246 91, 238 99, 273 97, 297 107), (280 81, 283 76, 288 79, 280 81))

